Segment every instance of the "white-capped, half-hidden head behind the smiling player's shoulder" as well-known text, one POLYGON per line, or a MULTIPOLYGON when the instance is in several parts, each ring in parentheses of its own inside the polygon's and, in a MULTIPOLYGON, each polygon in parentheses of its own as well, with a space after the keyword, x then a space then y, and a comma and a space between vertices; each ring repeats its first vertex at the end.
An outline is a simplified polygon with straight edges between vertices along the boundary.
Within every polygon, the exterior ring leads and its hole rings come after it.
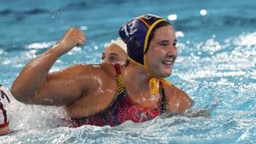
POLYGON ((125 51, 117 44, 111 43, 109 44, 102 53, 102 63, 103 62, 108 62, 108 63, 125 63, 125 60, 127 59, 127 54, 125 51))

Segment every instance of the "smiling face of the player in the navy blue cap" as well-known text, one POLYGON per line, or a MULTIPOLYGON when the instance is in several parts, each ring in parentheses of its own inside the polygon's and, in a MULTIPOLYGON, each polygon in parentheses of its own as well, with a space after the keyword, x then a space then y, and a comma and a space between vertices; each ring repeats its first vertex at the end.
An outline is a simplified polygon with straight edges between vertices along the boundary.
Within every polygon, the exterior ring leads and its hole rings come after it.
POLYGON ((155 31, 146 53, 146 63, 151 74, 158 78, 172 74, 172 66, 177 58, 176 43, 172 26, 162 26, 155 31))

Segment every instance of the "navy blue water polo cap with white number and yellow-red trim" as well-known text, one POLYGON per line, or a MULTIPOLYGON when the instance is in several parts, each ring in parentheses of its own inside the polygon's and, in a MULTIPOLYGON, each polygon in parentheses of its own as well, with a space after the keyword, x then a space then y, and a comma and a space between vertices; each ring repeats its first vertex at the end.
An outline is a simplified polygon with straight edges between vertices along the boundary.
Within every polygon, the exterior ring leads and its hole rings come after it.
POLYGON ((146 69, 148 69, 145 64, 148 37, 154 26, 161 21, 166 20, 153 14, 145 14, 126 22, 119 29, 119 37, 127 44, 127 54, 131 60, 135 60, 146 69))

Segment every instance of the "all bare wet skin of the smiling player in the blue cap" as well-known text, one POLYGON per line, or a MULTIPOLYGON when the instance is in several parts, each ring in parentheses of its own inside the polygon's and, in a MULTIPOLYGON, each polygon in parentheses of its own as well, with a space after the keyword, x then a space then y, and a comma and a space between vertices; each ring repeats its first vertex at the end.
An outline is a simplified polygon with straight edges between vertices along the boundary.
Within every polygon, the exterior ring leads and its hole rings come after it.
MULTIPOLYGON (((61 55, 85 41, 83 32, 71 28, 59 43, 31 60, 12 85, 11 93, 15 99, 27 104, 66 106, 71 118, 87 117, 108 107, 116 95, 116 72, 112 64, 79 64, 59 72, 49 72, 61 55)), ((149 72, 133 61, 130 61, 129 66, 122 67, 125 87, 131 101, 142 107, 158 107, 160 95, 150 94, 148 83, 153 76, 166 78, 171 75, 177 56, 175 43, 172 26, 160 27, 149 44, 149 72)), ((192 101, 183 90, 166 83, 164 88, 168 111, 182 113, 191 107, 192 101)))

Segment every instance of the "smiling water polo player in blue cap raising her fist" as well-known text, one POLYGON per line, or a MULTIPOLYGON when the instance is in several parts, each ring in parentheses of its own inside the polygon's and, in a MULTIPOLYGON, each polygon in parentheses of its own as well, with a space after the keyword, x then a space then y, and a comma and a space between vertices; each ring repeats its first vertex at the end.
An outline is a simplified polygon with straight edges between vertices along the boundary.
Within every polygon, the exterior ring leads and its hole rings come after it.
POLYGON ((127 44, 126 65, 74 65, 49 72, 61 55, 86 39, 71 28, 60 42, 31 60, 12 85, 11 93, 26 104, 66 106, 70 125, 118 125, 144 122, 163 112, 183 113, 189 96, 166 82, 177 57, 171 24, 156 15, 134 18, 119 30, 127 44))

